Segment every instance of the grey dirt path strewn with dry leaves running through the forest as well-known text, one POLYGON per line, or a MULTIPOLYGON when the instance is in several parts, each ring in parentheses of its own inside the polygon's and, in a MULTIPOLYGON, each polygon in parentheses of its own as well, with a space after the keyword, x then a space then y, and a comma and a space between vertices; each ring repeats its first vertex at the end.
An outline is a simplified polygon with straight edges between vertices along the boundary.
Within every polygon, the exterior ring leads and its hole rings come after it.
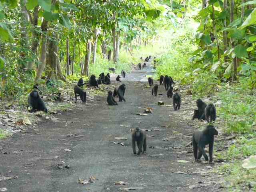
POLYGON ((120 188, 139 192, 217 191, 208 183, 210 176, 198 172, 211 167, 192 162, 192 148, 184 147, 194 130, 192 122, 178 120, 187 110, 186 102, 179 112, 158 106, 158 101, 172 104, 172 99, 166 97, 164 86, 157 97, 151 96, 151 88, 142 88, 147 84, 146 74, 152 74, 152 68, 136 70, 122 80, 126 102, 118 106, 106 105, 106 96, 90 107, 77 104, 75 110, 56 115, 58 122, 40 122, 36 130, 0 141, 0 188, 9 192, 120 192, 120 188), (153 114, 134 115, 143 113, 147 106, 154 108, 153 114), (140 156, 134 156, 131 147, 130 128, 136 126, 158 129, 147 132, 147 154, 140 156), (168 140, 163 140, 166 137, 168 140), (66 148, 71 151, 66 152, 66 148), (70 168, 60 169, 58 164, 70 168), (8 175, 18 178, 1 181, 1 176, 8 175), (90 176, 97 179, 95 183, 78 183, 78 178, 88 180, 90 176), (128 184, 114 185, 118 181, 128 184))

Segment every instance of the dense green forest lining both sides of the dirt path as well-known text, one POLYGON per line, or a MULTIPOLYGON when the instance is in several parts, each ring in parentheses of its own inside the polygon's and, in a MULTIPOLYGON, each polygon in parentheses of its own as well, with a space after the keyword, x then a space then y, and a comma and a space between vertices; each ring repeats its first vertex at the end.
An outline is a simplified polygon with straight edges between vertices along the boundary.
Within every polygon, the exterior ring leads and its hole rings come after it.
MULTIPOLYGON (((222 188, 255 190, 256 0, 0 0, 0 140, 13 134, 4 117, 28 112, 35 85, 50 116, 76 108, 80 78, 129 74, 147 56, 150 77, 171 76, 182 102, 215 104, 228 138, 214 152, 222 188)), ((108 86, 84 88, 93 100, 108 86)))

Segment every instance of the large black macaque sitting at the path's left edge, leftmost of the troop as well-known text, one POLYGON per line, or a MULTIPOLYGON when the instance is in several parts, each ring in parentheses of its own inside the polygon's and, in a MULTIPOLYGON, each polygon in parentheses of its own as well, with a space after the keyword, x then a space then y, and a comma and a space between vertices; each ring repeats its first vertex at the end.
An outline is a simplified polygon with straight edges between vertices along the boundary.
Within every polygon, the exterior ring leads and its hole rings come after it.
POLYGON ((28 112, 44 111, 47 113, 47 108, 44 104, 44 101, 40 97, 37 90, 33 90, 28 95, 28 112), (32 108, 32 109, 31 109, 32 108))

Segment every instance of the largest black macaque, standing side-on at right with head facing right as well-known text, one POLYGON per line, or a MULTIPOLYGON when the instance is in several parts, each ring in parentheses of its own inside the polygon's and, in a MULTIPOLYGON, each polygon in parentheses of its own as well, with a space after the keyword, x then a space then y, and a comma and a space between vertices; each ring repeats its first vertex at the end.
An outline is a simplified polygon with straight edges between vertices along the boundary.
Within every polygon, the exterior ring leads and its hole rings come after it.
POLYGON ((218 131, 212 125, 207 125, 203 131, 196 131, 192 137, 193 151, 195 161, 200 161, 202 155, 204 159, 208 161, 208 156, 206 155, 204 148, 209 144, 209 156, 210 161, 212 163, 212 151, 214 146, 214 135, 218 135, 218 131), (199 151, 199 152, 198 152, 199 151))

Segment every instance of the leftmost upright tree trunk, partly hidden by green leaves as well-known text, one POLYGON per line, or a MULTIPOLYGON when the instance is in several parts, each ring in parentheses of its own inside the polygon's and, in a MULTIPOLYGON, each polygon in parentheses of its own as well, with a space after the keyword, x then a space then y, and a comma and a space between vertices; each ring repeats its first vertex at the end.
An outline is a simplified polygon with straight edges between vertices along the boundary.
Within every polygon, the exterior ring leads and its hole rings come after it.
POLYGON ((28 49, 28 12, 26 11, 26 2, 27 0, 20 0, 20 46, 22 49, 20 52, 20 58, 19 60, 19 68, 24 69, 27 67, 27 62, 25 60, 27 54, 26 50, 28 49))

